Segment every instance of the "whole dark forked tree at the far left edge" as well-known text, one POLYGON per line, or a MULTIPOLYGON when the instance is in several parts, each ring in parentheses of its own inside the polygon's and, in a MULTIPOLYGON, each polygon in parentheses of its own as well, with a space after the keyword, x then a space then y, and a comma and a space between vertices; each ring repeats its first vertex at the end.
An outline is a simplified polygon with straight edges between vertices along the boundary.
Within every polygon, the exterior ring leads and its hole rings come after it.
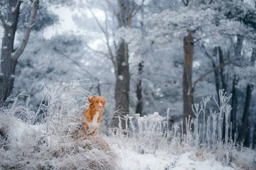
MULTIPOLYGON (((30 31, 32 30, 38 11, 39 0, 34 0, 32 1, 32 12, 22 42, 18 48, 14 49, 14 39, 17 31, 21 3, 21 0, 9 0, 6 17, 2 15, 2 10, 0 10, 0 20, 4 28, 1 51, 0 106, 8 105, 6 99, 12 92, 17 59, 23 53, 27 45, 30 31)), ((3 9, 3 4, 1 4, 1 9, 3 9)))

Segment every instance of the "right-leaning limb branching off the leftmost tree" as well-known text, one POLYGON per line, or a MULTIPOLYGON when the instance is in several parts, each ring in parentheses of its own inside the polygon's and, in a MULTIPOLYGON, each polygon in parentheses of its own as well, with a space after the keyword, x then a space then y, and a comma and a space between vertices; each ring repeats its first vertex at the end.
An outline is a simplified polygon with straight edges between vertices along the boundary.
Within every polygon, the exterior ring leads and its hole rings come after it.
POLYGON ((23 51, 28 43, 30 32, 35 23, 35 17, 36 17, 38 7, 39 7, 39 0, 34 0, 32 6, 33 6, 32 13, 31 13, 30 20, 27 25, 26 31, 24 33, 23 40, 22 40, 19 48, 14 52, 14 55, 12 55, 14 60, 17 60, 20 57, 20 55, 23 53, 23 51))

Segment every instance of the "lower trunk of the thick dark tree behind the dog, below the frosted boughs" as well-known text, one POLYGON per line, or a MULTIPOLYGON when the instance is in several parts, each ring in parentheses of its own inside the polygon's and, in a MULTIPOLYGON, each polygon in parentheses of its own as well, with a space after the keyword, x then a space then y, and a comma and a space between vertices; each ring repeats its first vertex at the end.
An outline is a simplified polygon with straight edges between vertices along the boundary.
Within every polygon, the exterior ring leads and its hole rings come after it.
MULTIPOLYGON (((125 121, 122 120, 123 116, 129 113, 129 91, 130 91, 130 73, 129 65, 126 61, 128 57, 128 46, 124 40, 119 42, 119 47, 117 50, 116 56, 116 91, 115 91, 115 100, 116 108, 122 109, 121 113, 121 125, 122 128, 125 128, 125 121), (126 57, 125 57, 126 56, 126 57)), ((114 118, 114 126, 117 127, 119 123, 118 118, 114 118)))

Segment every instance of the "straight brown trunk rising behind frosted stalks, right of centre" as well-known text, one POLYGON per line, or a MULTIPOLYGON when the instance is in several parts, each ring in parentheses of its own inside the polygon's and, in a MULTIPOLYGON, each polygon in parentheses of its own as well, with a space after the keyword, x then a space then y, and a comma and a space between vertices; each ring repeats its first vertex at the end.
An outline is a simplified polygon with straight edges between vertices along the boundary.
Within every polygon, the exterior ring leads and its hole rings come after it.
POLYGON ((192 111, 193 100, 193 87, 192 87, 192 63, 194 51, 194 37, 189 33, 184 37, 184 69, 183 69, 183 130, 186 133, 186 118, 189 116, 194 117, 192 111))

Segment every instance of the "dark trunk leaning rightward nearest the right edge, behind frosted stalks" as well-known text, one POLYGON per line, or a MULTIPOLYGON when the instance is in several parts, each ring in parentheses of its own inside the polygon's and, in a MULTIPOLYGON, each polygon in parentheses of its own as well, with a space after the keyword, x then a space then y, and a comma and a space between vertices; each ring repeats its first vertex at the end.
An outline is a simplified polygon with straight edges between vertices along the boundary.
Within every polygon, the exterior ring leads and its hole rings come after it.
MULTIPOLYGON (((243 143, 245 147, 249 147, 248 145, 245 145, 245 137, 247 135, 247 131, 250 130, 250 102, 252 97, 252 89, 253 87, 251 85, 247 85, 246 89, 246 98, 245 98, 245 104, 244 104, 244 113, 242 117, 242 121, 238 127, 238 142, 239 144, 243 143)), ((249 139, 250 140, 250 139, 249 139)))

